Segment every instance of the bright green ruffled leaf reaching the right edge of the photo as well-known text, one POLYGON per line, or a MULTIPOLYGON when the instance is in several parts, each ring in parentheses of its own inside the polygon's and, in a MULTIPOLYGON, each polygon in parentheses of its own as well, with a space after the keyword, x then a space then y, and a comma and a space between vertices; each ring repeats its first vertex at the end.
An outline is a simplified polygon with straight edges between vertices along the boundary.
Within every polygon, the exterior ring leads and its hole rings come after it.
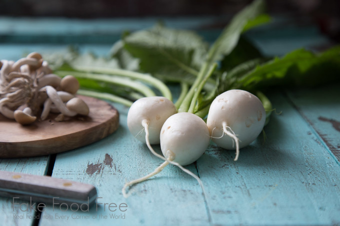
POLYGON ((272 87, 316 86, 340 81, 340 46, 321 54, 305 49, 275 57, 239 76, 232 88, 257 90, 272 87))

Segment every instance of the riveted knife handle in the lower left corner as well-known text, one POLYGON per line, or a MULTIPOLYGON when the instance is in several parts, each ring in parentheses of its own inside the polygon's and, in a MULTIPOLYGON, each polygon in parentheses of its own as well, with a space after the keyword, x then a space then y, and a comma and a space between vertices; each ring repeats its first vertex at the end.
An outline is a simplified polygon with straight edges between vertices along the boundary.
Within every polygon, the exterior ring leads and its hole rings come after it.
POLYGON ((53 205, 91 205, 96 200, 97 191, 92 185, 75 181, 0 171, 0 196, 53 205))

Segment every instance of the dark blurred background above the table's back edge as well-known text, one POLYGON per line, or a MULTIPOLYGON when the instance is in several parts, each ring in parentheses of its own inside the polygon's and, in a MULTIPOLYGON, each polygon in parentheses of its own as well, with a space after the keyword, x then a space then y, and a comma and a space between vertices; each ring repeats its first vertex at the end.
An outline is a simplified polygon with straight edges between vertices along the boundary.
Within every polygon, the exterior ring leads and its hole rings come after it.
MULTIPOLYGON (((0 0, 1 16, 112 18, 232 15, 251 0, 0 0)), ((340 0, 267 0, 268 12, 309 18, 340 40, 340 0)))

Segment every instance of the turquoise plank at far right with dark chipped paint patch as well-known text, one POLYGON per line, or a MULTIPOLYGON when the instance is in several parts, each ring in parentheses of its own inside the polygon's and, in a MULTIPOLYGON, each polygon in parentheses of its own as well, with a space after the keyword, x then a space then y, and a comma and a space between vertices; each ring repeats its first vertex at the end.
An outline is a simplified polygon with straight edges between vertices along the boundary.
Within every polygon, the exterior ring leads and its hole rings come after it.
POLYGON ((340 84, 296 90, 288 97, 340 161, 340 84))

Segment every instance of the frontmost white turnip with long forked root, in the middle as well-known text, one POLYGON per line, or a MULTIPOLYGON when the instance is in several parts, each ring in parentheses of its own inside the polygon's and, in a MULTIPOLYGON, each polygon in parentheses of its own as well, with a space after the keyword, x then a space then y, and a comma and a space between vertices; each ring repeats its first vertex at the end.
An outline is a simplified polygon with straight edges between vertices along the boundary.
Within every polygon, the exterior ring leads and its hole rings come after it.
POLYGON ((123 196, 126 197, 127 187, 156 175, 169 163, 178 166, 185 173, 194 177, 203 189, 200 179, 182 166, 196 161, 208 147, 209 141, 209 130, 205 122, 198 116, 187 112, 170 116, 160 130, 160 148, 165 162, 149 175, 126 183, 122 189, 123 196))

